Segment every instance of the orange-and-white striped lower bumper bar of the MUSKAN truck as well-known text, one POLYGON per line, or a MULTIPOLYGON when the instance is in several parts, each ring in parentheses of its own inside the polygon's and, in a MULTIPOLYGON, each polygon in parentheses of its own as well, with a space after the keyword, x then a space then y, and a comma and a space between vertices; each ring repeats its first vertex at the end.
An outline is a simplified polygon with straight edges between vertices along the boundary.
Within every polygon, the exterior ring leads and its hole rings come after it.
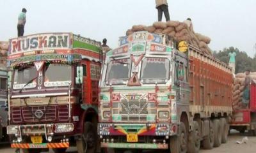
POLYGON ((19 148, 19 149, 56 149, 56 148, 68 148, 69 143, 63 142, 63 143, 12 143, 12 148, 19 148))

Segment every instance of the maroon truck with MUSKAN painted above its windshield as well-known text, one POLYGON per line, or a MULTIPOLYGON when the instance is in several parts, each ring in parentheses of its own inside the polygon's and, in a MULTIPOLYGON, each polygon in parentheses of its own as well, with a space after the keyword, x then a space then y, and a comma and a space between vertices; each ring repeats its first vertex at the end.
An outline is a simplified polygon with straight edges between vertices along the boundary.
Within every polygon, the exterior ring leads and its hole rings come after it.
POLYGON ((7 133, 24 152, 97 148, 100 41, 73 33, 10 39, 7 133))

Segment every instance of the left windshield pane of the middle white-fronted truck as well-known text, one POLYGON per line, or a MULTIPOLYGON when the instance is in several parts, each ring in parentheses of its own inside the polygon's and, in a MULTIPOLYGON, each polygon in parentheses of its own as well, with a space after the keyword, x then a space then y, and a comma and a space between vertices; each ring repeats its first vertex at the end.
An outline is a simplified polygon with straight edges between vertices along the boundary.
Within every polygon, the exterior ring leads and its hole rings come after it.
POLYGON ((126 84, 131 73, 131 60, 118 59, 110 61, 106 73, 106 84, 126 84))

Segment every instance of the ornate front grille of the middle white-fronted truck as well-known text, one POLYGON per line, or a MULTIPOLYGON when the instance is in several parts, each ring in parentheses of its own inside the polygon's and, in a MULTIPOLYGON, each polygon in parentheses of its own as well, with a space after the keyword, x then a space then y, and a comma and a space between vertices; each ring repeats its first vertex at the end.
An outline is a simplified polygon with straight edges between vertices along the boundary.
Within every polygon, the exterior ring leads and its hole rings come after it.
POLYGON ((121 115, 121 121, 140 121, 147 122, 147 115, 155 115, 156 117, 156 103, 143 100, 129 100, 122 99, 118 103, 113 103, 113 115, 121 115))

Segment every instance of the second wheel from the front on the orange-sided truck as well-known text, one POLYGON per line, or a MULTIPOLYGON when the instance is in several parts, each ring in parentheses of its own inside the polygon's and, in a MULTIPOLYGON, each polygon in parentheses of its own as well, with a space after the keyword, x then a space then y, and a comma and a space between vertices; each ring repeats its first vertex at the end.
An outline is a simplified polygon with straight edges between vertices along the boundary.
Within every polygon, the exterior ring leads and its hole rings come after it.
POLYGON ((198 153, 200 150, 201 131, 198 122, 194 121, 194 130, 189 133, 188 153, 198 153))

